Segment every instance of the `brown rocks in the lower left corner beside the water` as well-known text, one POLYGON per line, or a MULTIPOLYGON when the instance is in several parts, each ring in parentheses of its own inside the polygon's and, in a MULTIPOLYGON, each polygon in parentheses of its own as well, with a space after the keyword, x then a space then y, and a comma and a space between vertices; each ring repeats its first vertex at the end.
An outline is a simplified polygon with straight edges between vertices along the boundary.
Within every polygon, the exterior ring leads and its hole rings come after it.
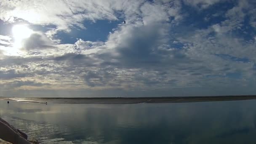
POLYGON ((35 139, 27 139, 27 134, 14 128, 0 118, 0 144, 39 144, 35 139))

